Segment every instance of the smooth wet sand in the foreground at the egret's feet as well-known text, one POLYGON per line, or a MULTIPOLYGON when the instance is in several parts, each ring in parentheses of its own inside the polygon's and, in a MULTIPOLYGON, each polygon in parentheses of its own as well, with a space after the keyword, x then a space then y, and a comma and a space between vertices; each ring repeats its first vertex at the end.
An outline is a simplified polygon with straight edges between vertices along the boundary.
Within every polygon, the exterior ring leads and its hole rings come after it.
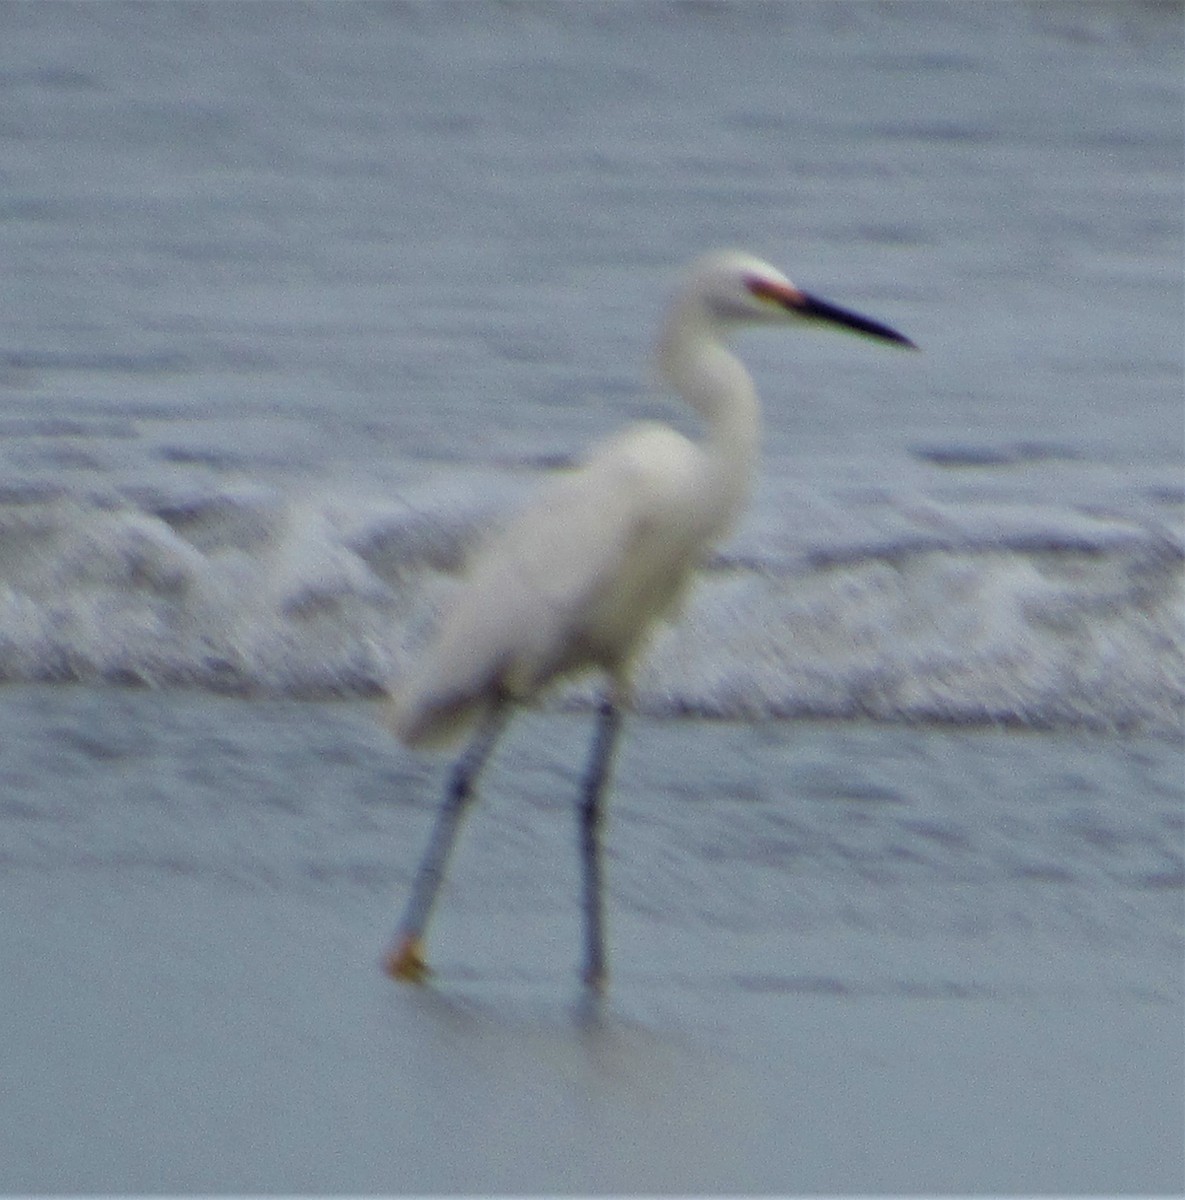
POLYGON ((744 938, 727 971, 688 938, 648 974, 645 929, 618 914, 630 967, 590 1006, 549 919, 495 917, 461 944, 443 920, 451 952, 415 988, 379 972, 373 914, 263 884, 16 871, 0 896, 5 1192, 1167 1193, 1181 1180, 1171 1004, 852 997, 763 977, 744 938))

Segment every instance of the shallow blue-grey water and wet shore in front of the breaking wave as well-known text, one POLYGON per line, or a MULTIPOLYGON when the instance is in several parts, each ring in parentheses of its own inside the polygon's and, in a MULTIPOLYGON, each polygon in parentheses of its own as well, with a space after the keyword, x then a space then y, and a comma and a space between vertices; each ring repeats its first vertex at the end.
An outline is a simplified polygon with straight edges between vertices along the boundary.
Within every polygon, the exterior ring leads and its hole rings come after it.
POLYGON ((417 989, 378 960, 441 773, 372 715, 7 691, 6 1189, 1180 1178, 1173 743, 631 722, 590 1006, 587 719, 507 737, 417 989))

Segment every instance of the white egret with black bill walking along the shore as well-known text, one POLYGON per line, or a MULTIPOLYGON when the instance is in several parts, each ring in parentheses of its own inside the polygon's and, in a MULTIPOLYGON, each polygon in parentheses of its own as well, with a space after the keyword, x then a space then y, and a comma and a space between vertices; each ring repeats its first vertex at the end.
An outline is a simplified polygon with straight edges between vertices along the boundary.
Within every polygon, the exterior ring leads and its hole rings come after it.
POLYGON ((657 342, 661 378, 698 415, 698 439, 645 421, 594 445, 480 545, 433 638, 389 697, 386 722, 408 746, 473 730, 446 786, 385 958, 397 979, 429 974, 425 932, 479 774, 512 710, 553 682, 604 678, 581 782, 582 977, 607 978, 602 797, 630 684, 656 626, 672 619, 711 548, 736 522, 757 469, 760 408, 728 348, 744 326, 830 325, 916 349, 896 330, 795 287, 739 251, 698 259, 675 290, 657 342))

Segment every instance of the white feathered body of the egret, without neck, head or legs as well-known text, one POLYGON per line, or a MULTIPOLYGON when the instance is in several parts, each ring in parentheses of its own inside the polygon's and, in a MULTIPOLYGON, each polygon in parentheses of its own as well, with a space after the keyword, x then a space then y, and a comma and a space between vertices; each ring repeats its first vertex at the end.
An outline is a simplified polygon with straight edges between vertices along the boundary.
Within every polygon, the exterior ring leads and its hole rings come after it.
POLYGON ((527 700, 585 668, 625 688, 646 634, 736 511, 711 488, 711 466, 696 443, 652 424, 552 480, 475 556, 396 698, 403 740, 440 744, 499 695, 527 700))

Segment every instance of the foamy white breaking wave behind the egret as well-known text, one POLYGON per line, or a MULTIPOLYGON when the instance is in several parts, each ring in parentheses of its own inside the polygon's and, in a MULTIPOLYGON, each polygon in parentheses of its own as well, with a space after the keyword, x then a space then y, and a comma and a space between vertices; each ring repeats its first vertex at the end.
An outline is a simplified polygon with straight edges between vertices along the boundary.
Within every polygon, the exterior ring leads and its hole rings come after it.
MULTIPOLYGON (((137 505, 26 498, 0 508, 0 678, 375 694, 397 684, 498 506, 265 490, 137 505)), ((902 512, 823 523, 793 545, 765 512, 660 637, 638 704, 1180 727, 1183 553, 1155 521, 902 512)), ((575 685, 558 698, 588 695, 575 685)))

